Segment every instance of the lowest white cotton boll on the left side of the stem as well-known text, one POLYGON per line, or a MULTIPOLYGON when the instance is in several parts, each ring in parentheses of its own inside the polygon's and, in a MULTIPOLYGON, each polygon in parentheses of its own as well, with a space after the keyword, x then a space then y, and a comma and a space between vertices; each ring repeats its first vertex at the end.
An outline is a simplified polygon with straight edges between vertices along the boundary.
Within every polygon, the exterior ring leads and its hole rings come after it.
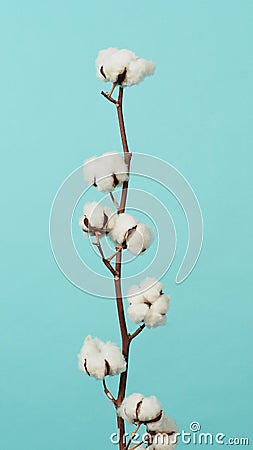
POLYGON ((78 355, 78 365, 82 372, 98 380, 126 370, 126 361, 119 347, 92 336, 87 336, 83 343, 78 355))

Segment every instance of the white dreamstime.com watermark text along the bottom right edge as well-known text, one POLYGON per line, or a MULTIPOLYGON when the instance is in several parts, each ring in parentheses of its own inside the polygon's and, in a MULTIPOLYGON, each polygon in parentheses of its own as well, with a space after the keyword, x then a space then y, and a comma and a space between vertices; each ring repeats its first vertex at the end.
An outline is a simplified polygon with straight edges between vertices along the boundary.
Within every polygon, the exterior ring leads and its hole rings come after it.
MULTIPOLYGON (((181 432, 175 432, 172 435, 166 433, 157 433, 155 436, 148 432, 140 435, 135 433, 131 435, 125 433, 123 437, 124 444, 127 444, 131 439, 131 445, 137 446, 138 444, 151 444, 154 445, 176 445, 182 443, 185 445, 250 445, 248 437, 231 437, 226 436, 225 433, 210 433, 203 432, 199 422, 193 421, 189 425, 188 430, 182 430, 181 432)), ((110 441, 114 445, 119 444, 119 430, 110 435, 110 441)), ((138 447, 137 447, 138 448, 138 447)))

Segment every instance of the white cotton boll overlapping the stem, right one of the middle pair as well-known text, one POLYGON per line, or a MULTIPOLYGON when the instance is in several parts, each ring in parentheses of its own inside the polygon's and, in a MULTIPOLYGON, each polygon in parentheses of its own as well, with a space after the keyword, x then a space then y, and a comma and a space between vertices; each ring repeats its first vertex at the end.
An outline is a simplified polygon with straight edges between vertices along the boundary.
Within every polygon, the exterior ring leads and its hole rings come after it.
POLYGON ((139 255, 152 243, 151 228, 139 223, 131 214, 119 214, 114 221, 110 236, 118 245, 123 245, 130 252, 139 255))

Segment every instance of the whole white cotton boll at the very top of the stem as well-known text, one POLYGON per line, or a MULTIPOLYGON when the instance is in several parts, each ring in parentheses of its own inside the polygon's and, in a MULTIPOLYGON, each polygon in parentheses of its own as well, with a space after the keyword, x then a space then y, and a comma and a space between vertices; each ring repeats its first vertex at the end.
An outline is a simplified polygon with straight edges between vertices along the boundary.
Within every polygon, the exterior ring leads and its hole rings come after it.
POLYGON ((146 76, 153 75, 155 64, 139 58, 130 50, 108 48, 101 50, 96 60, 97 76, 122 86, 140 83, 146 76))

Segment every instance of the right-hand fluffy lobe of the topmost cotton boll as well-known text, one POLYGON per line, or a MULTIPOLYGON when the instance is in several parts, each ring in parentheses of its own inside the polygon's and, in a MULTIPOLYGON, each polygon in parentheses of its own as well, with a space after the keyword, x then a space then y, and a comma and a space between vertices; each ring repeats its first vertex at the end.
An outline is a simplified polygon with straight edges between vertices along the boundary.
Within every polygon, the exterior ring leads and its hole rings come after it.
POLYGON ((146 76, 153 75, 155 64, 143 58, 132 60, 127 69, 127 76, 124 85, 132 86, 140 83, 146 76))

